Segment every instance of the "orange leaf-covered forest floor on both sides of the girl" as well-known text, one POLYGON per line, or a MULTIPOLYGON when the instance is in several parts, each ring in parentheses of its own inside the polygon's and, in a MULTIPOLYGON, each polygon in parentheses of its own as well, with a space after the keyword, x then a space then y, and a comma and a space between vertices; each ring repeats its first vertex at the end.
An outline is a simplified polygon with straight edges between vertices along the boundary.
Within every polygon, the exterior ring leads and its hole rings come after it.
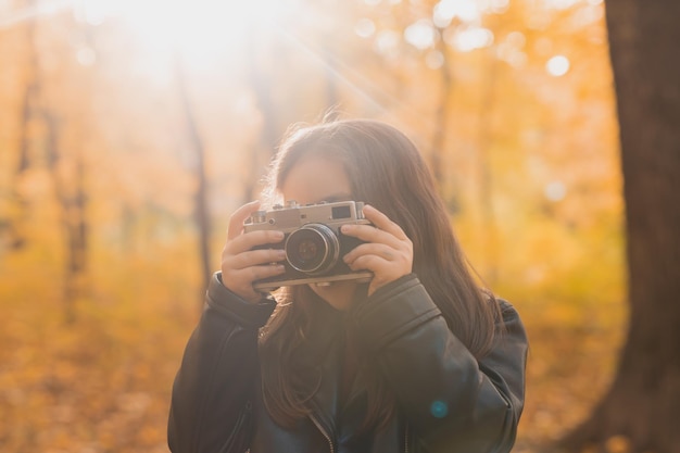
MULTIPOLYGON (((58 276, 3 269, 0 451, 167 452, 171 388, 200 295, 181 279, 128 272, 124 291, 99 289, 64 306, 48 284, 58 276)), ((550 451, 588 416, 625 332, 620 301, 532 298, 508 297, 531 343, 517 453, 550 451)))

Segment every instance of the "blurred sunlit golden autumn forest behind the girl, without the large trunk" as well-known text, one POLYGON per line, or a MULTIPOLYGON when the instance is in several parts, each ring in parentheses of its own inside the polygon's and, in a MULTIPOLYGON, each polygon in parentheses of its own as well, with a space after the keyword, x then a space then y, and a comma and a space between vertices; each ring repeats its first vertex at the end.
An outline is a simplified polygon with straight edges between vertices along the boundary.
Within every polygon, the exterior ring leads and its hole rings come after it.
POLYGON ((516 452, 584 419, 626 331, 602 0, 0 0, 0 450, 166 452, 231 212, 288 127, 419 147, 531 340, 516 452))

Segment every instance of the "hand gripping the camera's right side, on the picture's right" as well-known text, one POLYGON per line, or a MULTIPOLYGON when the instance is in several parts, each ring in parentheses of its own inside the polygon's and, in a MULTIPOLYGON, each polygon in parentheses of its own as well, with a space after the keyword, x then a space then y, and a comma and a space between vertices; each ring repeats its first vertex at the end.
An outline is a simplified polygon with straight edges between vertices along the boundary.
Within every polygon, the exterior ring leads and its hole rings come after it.
POLYGON ((370 270, 368 295, 378 288, 394 281, 413 269, 413 242, 404 230, 377 209, 365 205, 364 216, 373 225, 348 224, 342 234, 358 238, 365 243, 344 255, 352 270, 370 270))

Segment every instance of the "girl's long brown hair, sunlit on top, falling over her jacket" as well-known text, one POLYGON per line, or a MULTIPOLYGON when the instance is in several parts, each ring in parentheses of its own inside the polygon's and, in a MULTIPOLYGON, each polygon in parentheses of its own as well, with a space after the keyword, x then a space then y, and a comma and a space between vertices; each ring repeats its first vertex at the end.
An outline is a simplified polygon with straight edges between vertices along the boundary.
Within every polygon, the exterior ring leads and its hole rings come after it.
MULTIPOLYGON (((476 357, 494 338, 499 307, 481 290, 454 237, 449 215, 430 172, 415 144, 396 128, 377 121, 344 119, 295 130, 284 140, 273 162, 268 189, 280 190, 290 169, 306 155, 322 155, 344 166, 354 200, 372 204, 402 227, 413 241, 413 272, 440 309, 452 332, 476 357)), ((282 425, 308 413, 305 402, 315 391, 300 388, 302 370, 291 366, 312 323, 312 293, 304 286, 284 289, 279 305, 260 342, 265 404, 282 425)), ((394 402, 379 374, 368 387, 367 423, 386 419, 394 402)))

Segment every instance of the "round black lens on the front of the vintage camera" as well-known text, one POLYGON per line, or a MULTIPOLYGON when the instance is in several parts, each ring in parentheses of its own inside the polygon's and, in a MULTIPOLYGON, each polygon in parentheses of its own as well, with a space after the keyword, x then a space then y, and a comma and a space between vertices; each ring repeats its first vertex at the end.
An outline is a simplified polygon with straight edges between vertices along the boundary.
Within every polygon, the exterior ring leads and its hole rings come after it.
POLYGON ((322 274, 336 264, 340 244, 336 234, 323 224, 308 224, 294 230, 286 240, 286 259, 305 274, 322 274))

